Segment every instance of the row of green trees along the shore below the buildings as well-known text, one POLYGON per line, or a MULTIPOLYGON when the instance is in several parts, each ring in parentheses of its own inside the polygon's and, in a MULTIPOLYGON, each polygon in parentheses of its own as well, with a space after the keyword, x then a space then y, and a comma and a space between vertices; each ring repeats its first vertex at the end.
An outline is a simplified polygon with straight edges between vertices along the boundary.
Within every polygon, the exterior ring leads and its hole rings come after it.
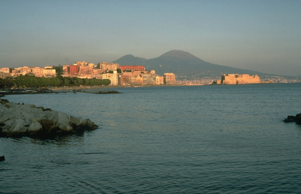
POLYGON ((0 78, 0 88, 43 88, 43 87, 63 87, 63 86, 101 86, 110 85, 110 79, 87 79, 78 77, 36 77, 31 75, 20 75, 17 77, 0 78))

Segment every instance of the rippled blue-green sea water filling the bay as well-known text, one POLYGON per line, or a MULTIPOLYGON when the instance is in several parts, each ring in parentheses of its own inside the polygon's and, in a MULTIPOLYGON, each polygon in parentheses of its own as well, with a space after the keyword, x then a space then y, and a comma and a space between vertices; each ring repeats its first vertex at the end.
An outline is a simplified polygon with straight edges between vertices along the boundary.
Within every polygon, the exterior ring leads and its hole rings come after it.
POLYGON ((115 88, 5 97, 99 129, 0 138, 0 193, 299 193, 301 84, 115 88))

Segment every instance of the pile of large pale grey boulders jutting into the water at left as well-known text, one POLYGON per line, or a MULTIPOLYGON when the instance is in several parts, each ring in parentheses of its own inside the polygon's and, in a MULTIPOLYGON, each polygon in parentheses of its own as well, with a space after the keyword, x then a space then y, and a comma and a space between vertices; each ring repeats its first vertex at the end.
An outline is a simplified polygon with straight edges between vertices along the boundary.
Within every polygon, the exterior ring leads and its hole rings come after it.
POLYGON ((90 119, 0 99, 0 137, 48 137, 97 128, 90 119))

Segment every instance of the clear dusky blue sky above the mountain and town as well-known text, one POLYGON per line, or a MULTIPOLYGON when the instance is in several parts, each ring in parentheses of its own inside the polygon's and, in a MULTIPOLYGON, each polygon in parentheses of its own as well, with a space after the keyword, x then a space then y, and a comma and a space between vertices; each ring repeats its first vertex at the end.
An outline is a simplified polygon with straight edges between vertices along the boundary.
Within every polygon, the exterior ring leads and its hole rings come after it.
POLYGON ((173 49, 300 75, 301 0, 0 0, 0 67, 149 59, 173 49))

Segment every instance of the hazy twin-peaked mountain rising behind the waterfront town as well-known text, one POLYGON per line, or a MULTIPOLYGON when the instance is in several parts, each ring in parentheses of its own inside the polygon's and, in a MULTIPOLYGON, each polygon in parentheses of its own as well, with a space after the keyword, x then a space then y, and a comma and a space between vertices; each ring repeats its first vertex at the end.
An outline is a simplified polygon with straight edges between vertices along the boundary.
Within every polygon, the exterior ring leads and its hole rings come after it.
POLYGON ((175 73, 177 79, 220 79, 222 74, 250 74, 250 75, 270 75, 257 71, 244 70, 234 67, 212 64, 181 50, 172 50, 163 55, 148 60, 125 55, 113 63, 120 65, 143 65, 146 70, 155 70, 157 75, 164 73, 175 73))

